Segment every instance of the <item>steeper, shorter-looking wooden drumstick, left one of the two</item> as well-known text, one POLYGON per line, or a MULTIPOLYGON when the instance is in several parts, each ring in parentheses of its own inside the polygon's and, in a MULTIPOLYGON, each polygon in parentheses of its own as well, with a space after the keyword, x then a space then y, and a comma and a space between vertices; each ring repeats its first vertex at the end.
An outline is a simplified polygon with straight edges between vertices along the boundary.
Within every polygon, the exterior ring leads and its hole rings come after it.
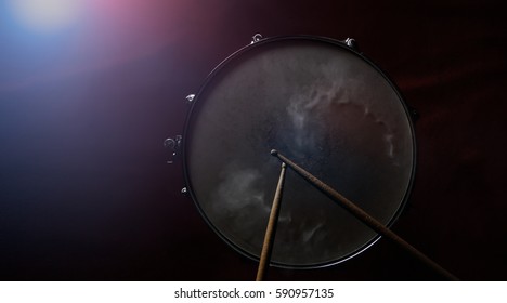
POLYGON ((271 252, 273 251, 273 243, 276 234, 276 224, 278 223, 280 203, 282 201, 282 194, 284 190, 285 171, 286 164, 282 162, 278 185, 276 186, 275 196, 273 198, 273 206, 271 207, 270 220, 268 221, 268 227, 265 228, 264 243, 262 245, 259 268, 257 271, 257 281, 264 280, 268 266, 270 265, 271 252))

